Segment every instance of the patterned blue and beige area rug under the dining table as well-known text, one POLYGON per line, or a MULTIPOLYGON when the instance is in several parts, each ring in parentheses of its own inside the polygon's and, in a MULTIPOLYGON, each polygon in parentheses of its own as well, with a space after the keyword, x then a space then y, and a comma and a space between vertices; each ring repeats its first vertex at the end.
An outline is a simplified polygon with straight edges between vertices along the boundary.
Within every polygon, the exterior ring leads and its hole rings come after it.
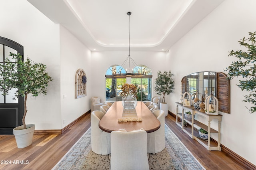
MULTIPOLYGON (((205 170, 167 125, 165 140, 164 150, 148 154, 150 170, 205 170)), ((52 170, 109 170, 110 159, 92 152, 89 128, 52 170)))

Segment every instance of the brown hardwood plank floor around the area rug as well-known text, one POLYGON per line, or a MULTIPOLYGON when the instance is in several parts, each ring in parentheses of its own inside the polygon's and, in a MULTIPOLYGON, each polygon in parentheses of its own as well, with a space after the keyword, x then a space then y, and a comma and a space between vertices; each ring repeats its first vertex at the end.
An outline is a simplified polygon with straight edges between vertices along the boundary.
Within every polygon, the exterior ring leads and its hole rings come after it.
MULTIPOLYGON (((207 170, 246 169, 221 151, 208 151, 175 124, 170 114, 165 123, 207 170)), ((85 115, 61 135, 35 134, 32 145, 17 148, 13 135, 0 135, 0 169, 50 170, 90 127, 90 114, 85 115)))

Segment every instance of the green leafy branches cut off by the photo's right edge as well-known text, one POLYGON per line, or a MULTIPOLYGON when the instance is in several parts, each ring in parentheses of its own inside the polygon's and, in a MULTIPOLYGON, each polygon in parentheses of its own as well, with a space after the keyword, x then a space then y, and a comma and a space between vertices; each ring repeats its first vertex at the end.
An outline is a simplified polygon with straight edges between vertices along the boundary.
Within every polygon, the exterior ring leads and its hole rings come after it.
MULTIPOLYGON (((248 39, 243 38, 238 41, 243 48, 241 50, 231 50, 228 56, 235 56, 238 61, 233 61, 225 71, 228 71, 228 78, 242 77, 245 80, 239 80, 238 87, 243 91, 249 92, 245 95, 244 102, 251 103, 249 112, 256 112, 256 32, 249 32, 248 39), (246 49, 246 51, 244 51, 246 49)), ((247 108, 247 107, 246 107, 247 108)))

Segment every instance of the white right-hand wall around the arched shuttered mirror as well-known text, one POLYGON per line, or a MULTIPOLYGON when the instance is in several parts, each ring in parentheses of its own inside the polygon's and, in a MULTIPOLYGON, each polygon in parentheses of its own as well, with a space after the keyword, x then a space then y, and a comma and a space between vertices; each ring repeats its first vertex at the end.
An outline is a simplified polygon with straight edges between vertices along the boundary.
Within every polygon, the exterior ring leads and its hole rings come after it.
MULTIPOLYGON (((174 93, 168 97, 172 113, 176 113, 174 103, 180 98, 182 77, 198 71, 223 72, 236 59, 228 57, 228 51, 239 50, 238 40, 256 31, 255 6, 254 0, 226 0, 170 48, 168 63, 176 82, 174 93)), ((245 108, 249 106, 242 102, 246 92, 237 83, 237 78, 230 81, 231 113, 221 113, 221 144, 256 164, 256 114, 245 108)), ((216 121, 213 124, 216 127, 216 121)))

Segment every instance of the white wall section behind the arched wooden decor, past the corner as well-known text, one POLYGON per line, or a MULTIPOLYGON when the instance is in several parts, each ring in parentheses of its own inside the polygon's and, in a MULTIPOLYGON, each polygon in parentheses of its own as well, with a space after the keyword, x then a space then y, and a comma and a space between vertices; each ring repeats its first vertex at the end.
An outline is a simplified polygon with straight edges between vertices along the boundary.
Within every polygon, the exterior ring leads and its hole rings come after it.
POLYGON ((75 38, 66 28, 60 26, 60 98, 62 128, 90 110, 91 51, 75 38), (88 83, 87 95, 75 99, 75 75, 84 69, 88 83), (63 97, 63 96, 66 97, 63 97))

